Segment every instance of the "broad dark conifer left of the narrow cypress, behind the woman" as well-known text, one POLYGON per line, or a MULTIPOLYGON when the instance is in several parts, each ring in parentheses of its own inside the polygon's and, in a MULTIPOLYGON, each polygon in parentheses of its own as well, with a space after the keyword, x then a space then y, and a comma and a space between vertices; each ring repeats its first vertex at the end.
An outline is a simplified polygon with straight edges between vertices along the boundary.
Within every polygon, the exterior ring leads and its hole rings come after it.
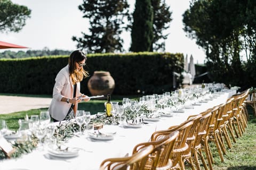
POLYGON ((83 37, 73 37, 77 48, 87 53, 123 52, 120 35, 127 29, 125 21, 130 20, 127 0, 84 0, 78 8, 89 19, 90 35, 82 32, 83 37))

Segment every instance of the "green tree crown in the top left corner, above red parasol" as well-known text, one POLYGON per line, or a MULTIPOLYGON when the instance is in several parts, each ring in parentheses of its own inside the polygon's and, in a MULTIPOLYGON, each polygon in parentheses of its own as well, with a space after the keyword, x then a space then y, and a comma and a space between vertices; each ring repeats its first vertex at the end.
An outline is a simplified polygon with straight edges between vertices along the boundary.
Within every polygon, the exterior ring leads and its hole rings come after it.
POLYGON ((30 18, 30 13, 26 6, 0 0, 0 32, 19 32, 30 18))

